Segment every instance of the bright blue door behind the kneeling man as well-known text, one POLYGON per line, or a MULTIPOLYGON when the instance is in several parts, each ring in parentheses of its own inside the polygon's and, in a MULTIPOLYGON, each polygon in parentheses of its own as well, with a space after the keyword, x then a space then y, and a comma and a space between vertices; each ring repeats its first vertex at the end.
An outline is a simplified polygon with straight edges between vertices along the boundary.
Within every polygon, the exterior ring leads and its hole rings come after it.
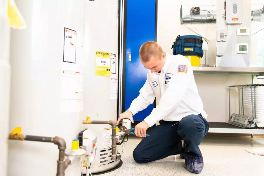
MULTIPOLYGON (((125 36, 124 36, 125 37, 125 36)), ((127 110, 144 85, 148 69, 139 59, 139 48, 147 41, 155 41, 156 37, 156 0, 127 0, 126 11, 126 77, 125 77, 125 109, 127 110), (129 59, 131 53, 131 60, 129 59)), ((143 121, 154 103, 133 116, 134 121, 143 121)))

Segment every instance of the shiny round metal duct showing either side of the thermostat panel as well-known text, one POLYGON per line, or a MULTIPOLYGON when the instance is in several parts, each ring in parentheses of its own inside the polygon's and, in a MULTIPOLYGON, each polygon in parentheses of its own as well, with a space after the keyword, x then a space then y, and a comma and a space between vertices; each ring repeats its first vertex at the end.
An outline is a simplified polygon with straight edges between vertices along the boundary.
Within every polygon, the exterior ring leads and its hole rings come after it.
MULTIPOLYGON (((263 9, 260 9, 262 5, 251 7, 251 21, 261 21, 261 14, 263 9)), ((180 10, 180 23, 181 24, 213 24, 216 23, 216 6, 182 6, 180 10), (195 9, 197 8, 197 9, 195 9), (197 11, 195 11, 197 10, 197 11)))

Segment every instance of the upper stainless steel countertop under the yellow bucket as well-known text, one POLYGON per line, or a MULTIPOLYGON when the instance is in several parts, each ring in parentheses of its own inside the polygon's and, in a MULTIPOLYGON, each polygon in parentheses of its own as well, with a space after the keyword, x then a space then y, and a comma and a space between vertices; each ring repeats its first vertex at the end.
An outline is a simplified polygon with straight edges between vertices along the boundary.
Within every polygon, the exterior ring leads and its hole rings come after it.
POLYGON ((192 67, 194 74, 264 75, 264 67, 192 67))

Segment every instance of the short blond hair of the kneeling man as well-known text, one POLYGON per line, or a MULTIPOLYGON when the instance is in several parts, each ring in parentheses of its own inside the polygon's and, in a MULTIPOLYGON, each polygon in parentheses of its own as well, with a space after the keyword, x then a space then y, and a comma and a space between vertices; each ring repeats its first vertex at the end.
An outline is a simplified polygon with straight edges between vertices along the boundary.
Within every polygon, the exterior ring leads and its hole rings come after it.
POLYGON ((139 49, 139 57, 143 62, 148 62, 150 57, 160 58, 163 53, 161 46, 156 42, 146 42, 139 49))

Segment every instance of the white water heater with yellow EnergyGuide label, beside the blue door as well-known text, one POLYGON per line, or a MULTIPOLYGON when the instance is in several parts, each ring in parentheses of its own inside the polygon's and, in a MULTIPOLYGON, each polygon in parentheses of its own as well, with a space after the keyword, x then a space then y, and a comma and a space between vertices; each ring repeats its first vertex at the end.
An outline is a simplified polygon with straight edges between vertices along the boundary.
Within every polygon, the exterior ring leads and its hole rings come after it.
MULTIPOLYGON (((91 120, 117 120, 119 22, 117 2, 117 0, 85 2, 83 120, 86 120, 86 116, 91 120)), ((85 124, 83 129, 85 128, 92 129, 98 138, 96 157, 91 164, 92 174, 118 166, 120 157, 111 160, 111 126, 85 124)), ((84 168, 83 173, 86 173, 84 168)))

